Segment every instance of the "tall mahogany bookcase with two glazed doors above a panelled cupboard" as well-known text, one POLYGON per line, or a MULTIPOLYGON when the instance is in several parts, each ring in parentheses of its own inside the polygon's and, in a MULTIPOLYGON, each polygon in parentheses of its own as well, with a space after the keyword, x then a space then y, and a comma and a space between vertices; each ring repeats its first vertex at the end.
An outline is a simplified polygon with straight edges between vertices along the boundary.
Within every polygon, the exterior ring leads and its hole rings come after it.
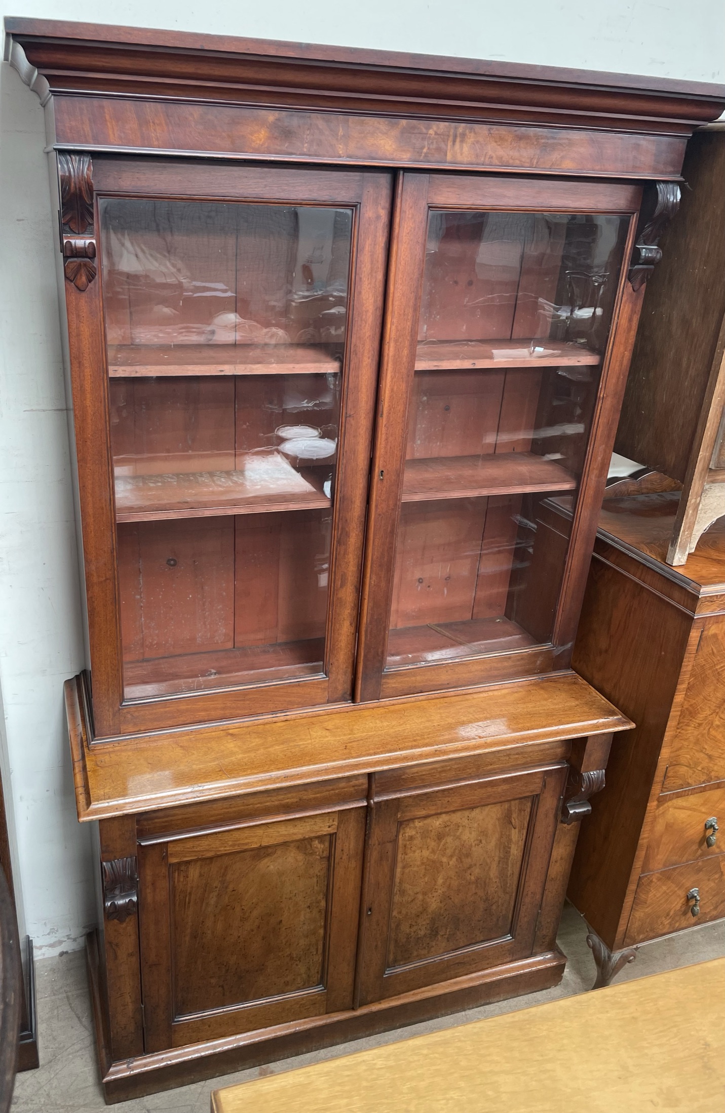
POLYGON ((725 89, 6 26, 59 214, 107 1100, 556 984, 630 726, 571 646, 725 89))

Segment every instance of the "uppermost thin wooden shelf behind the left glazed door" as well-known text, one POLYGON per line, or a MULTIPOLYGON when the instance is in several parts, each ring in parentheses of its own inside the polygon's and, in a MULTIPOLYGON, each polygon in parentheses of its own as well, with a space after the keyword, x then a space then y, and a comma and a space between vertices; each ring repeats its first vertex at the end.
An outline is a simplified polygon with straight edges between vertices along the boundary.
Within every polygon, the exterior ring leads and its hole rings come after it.
POLYGON ((340 371, 342 353, 300 344, 109 346, 111 378, 151 375, 322 375, 340 371))

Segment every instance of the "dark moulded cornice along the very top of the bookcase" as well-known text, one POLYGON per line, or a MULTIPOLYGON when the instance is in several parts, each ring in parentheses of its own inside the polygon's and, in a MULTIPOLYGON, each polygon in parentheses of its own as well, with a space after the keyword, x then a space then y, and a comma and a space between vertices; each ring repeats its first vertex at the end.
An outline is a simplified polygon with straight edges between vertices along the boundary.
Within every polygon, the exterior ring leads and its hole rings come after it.
POLYGON ((8 17, 7 57, 41 100, 124 95, 688 134, 725 86, 511 62, 8 17))

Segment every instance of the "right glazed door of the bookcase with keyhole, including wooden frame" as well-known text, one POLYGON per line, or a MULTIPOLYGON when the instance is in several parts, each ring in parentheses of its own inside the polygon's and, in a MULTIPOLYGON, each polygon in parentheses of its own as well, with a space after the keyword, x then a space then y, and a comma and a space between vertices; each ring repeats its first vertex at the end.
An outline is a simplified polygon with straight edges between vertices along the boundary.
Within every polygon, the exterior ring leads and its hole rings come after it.
POLYGON ((362 699, 568 663, 634 339, 616 323, 639 196, 401 176, 362 699), (557 496, 575 499, 570 530, 557 496))

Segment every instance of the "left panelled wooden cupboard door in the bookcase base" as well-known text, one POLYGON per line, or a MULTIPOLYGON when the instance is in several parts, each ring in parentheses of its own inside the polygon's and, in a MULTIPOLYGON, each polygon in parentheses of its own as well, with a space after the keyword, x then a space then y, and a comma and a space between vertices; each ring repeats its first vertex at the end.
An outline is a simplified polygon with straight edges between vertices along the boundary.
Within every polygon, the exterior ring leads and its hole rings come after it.
POLYGON ((350 1008, 364 808, 139 846, 146 1051, 350 1008))

